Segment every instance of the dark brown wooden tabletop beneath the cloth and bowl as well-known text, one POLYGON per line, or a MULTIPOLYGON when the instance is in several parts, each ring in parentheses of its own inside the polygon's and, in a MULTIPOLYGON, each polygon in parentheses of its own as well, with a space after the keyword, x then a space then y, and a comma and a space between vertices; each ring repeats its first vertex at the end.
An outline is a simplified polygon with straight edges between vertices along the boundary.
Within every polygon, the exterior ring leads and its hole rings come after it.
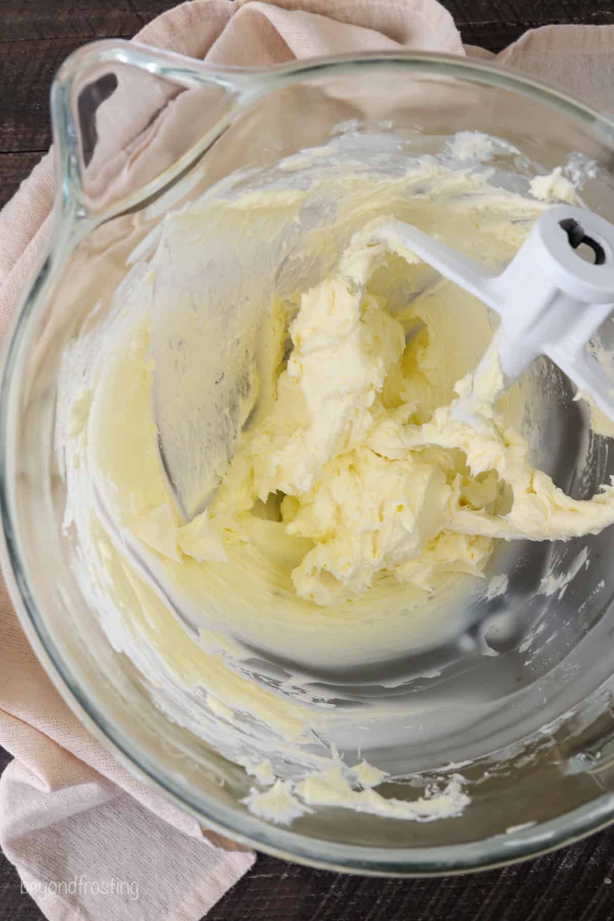
MULTIPOLYGON (((66 55, 86 41, 129 38, 171 6, 173 0, 0 0, 0 207, 50 144, 49 88, 66 55)), ((491 51, 529 27, 614 23, 614 0, 444 0, 444 6, 464 41, 491 51)), ((0 771, 7 761, 0 750, 0 771)), ((0 921, 42 917, 0 854, 0 921)), ((614 829, 516 867, 443 880, 371 880, 261 856, 207 915, 207 921, 607 918, 614 918, 614 829)))

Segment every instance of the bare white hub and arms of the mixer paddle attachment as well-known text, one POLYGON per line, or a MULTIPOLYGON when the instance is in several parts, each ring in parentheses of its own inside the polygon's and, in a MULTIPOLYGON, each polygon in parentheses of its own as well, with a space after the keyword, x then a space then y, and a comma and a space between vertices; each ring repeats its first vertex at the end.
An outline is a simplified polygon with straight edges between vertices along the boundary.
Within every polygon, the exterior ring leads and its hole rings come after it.
POLYGON ((607 220, 584 208, 551 207, 499 275, 402 221, 380 227, 373 240, 391 248, 400 242, 501 317, 472 393, 455 407, 458 418, 475 421, 480 382, 495 356, 504 378, 498 397, 545 355, 614 421, 614 379, 585 349, 614 308, 614 226, 607 220))

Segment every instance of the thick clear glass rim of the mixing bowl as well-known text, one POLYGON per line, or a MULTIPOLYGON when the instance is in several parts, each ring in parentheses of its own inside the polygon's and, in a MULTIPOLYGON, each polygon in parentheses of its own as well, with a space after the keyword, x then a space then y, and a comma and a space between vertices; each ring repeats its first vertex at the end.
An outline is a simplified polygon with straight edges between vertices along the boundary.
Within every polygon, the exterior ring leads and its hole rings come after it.
MULTIPOLYGON (((262 822, 203 795, 191 797, 187 788, 159 770, 146 752, 139 750, 107 714, 75 681, 60 648, 54 642, 44 613, 35 600, 35 589, 24 564, 17 527, 15 490, 11 471, 17 449, 19 370, 23 367, 28 332, 44 307, 45 297, 76 242, 88 230, 115 212, 91 215, 82 201, 77 129, 73 121, 70 91, 75 80, 97 64, 132 64, 184 87, 212 82, 237 92, 246 103, 284 86, 322 76, 351 75, 365 67, 403 68, 408 74, 457 77, 469 83, 501 87, 527 98, 539 99, 592 128, 601 143, 614 146, 614 121, 555 87, 481 59, 465 59, 431 52, 370 52, 278 64, 272 67, 221 67, 149 48, 136 42, 98 41, 74 52, 64 62, 52 87, 52 126, 56 158, 57 191, 53 227, 38 271, 26 286, 14 310, 3 345, 0 379, 0 556, 6 585, 19 621, 44 669, 64 701, 85 727, 113 756, 148 787, 195 816, 204 827, 228 834, 237 842, 254 846, 275 857, 295 860, 322 869, 383 876, 426 876, 491 869, 592 834, 614 821, 614 796, 604 793, 584 806, 556 819, 513 834, 504 834, 465 845, 436 847, 367 847, 340 845, 297 834, 262 822)), ((234 114, 234 113, 233 113, 234 114)), ((219 130, 219 125, 216 126, 219 130)), ((203 138, 198 149, 168 171, 164 181, 153 181, 138 193, 138 201, 159 192, 190 165, 210 143, 203 138), (201 149, 202 148, 202 149, 201 149)), ((130 202, 122 202, 124 210, 130 202)))

